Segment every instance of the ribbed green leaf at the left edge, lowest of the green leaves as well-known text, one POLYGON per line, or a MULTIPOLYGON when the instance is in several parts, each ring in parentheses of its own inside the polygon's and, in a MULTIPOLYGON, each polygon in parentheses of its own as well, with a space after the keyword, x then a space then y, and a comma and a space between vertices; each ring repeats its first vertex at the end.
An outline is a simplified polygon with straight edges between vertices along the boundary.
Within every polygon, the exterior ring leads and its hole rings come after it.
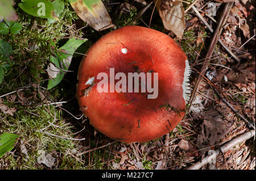
POLYGON ((14 148, 15 142, 19 135, 12 133, 3 133, 0 135, 0 158, 14 148))

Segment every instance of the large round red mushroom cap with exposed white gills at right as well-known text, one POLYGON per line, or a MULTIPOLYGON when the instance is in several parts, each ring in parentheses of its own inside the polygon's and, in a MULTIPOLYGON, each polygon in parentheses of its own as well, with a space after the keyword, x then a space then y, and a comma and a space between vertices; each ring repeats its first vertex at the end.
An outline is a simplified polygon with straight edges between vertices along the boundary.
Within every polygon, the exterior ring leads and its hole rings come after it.
POLYGON ((122 142, 150 141, 171 132, 184 117, 191 70, 171 37, 126 26, 106 34, 86 55, 77 99, 101 133, 122 142))

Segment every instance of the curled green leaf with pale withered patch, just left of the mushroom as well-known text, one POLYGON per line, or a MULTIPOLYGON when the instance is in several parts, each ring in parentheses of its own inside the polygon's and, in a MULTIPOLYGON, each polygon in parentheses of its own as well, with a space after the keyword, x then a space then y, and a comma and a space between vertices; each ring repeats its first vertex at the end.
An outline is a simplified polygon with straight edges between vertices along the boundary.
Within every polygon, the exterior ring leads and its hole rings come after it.
POLYGON ((50 80, 48 81, 47 90, 52 89, 58 85, 64 77, 65 70, 68 70, 73 54, 76 49, 79 48, 87 39, 80 40, 77 38, 72 38, 67 41, 55 56, 50 57, 52 64, 48 65, 47 72, 50 75, 50 80))

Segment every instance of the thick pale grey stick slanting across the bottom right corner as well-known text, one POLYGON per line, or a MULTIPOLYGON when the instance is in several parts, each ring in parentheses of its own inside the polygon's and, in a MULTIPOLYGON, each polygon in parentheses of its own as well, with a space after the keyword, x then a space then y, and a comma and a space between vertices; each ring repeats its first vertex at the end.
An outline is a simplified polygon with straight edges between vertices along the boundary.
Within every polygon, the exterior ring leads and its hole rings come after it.
POLYGON ((242 142, 249 140, 251 137, 255 136, 255 131, 251 130, 249 132, 243 133, 240 136, 237 136, 233 140, 230 140, 225 145, 221 146, 220 149, 215 151, 215 154, 208 155, 201 161, 195 163, 194 165, 187 168, 187 170, 199 170, 204 165, 207 165, 207 163, 212 162, 213 160, 216 160, 216 157, 222 152, 226 153, 226 151, 234 148, 234 146, 241 144, 242 142))

